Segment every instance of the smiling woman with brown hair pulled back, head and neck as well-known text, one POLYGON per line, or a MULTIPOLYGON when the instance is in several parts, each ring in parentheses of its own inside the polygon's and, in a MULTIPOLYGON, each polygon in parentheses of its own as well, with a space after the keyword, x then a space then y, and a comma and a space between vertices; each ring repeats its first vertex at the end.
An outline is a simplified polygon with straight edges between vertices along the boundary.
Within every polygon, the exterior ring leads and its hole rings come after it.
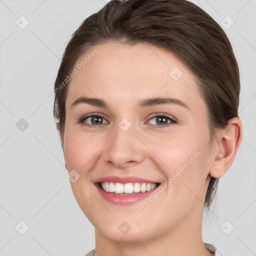
POLYGON ((186 0, 112 0, 64 51, 54 116, 86 256, 222 255, 201 236, 242 137, 239 71, 220 26, 186 0))

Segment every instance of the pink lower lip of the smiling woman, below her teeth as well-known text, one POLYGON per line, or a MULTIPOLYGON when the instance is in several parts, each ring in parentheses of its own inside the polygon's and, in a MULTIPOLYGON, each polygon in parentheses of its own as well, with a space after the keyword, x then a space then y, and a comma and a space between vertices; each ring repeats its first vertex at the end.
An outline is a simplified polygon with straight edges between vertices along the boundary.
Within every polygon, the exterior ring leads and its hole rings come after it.
POLYGON ((106 199, 107 201, 113 203, 113 204, 121 204, 121 205, 130 205, 132 203, 141 201, 145 198, 147 198, 151 193, 155 191, 155 189, 158 187, 156 186, 154 189, 146 192, 139 192, 139 193, 134 193, 130 195, 118 195, 118 194, 113 194, 110 192, 106 192, 102 190, 98 184, 95 184, 96 188, 98 189, 100 195, 106 199))

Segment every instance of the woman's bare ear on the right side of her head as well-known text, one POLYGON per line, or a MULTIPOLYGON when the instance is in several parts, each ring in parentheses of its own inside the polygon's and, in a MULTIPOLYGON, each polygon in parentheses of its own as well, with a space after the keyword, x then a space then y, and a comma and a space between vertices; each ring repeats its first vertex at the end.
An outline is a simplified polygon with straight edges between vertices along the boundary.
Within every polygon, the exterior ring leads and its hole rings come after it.
POLYGON ((226 128, 216 136, 216 152, 210 167, 209 175, 215 178, 222 177, 234 161, 234 157, 242 140, 242 124, 238 117, 228 120, 226 128))

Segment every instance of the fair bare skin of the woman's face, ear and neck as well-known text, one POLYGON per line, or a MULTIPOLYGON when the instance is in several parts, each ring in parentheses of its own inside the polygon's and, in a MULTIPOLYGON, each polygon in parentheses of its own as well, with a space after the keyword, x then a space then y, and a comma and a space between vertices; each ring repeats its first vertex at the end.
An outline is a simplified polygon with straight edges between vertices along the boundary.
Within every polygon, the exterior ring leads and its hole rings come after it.
MULTIPOLYGON (((96 44, 76 63, 97 48, 99 52, 68 85, 63 152, 68 171, 80 177, 71 184, 74 196, 95 227, 95 252, 115 255, 214 255, 201 235, 203 202, 210 175, 221 177, 231 166, 241 142, 241 122, 235 117, 211 141, 207 108, 189 69, 172 53, 139 43, 96 44), (174 80, 173 67, 182 71, 174 80), (80 103, 78 97, 96 97, 108 108, 80 103), (189 109, 174 103, 139 107, 144 98, 173 97, 189 109), (103 123, 89 127, 89 114, 103 117, 103 123), (154 114, 165 113, 169 126, 158 127, 154 114), (118 123, 126 118, 127 131, 118 123), (114 205, 103 199, 93 181, 106 175, 138 176, 161 182, 172 177, 197 151, 201 154, 157 198, 132 205, 114 205), (122 233, 118 226, 130 226, 122 233), (150 223, 150 224, 149 224, 150 223)), ((94 124, 95 125, 95 124, 94 124)), ((59 128, 59 127, 58 127, 59 128)), ((210 242, 210 241, 208 241, 210 242)))

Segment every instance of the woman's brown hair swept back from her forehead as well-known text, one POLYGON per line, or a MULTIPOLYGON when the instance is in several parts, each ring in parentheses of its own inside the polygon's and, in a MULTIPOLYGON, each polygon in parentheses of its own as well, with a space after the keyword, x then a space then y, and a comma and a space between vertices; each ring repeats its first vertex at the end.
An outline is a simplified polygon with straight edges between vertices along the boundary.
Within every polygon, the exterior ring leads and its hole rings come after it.
MULTIPOLYGON (((109 40, 148 43, 174 53, 197 79, 212 139, 216 128, 224 128, 230 118, 238 117, 238 65, 226 34, 212 17, 186 0, 111 0, 81 23, 63 53, 53 107, 62 147, 68 82, 60 90, 59 85, 85 50, 109 40)), ((207 211, 217 184, 218 178, 211 177, 204 201, 207 211)))

